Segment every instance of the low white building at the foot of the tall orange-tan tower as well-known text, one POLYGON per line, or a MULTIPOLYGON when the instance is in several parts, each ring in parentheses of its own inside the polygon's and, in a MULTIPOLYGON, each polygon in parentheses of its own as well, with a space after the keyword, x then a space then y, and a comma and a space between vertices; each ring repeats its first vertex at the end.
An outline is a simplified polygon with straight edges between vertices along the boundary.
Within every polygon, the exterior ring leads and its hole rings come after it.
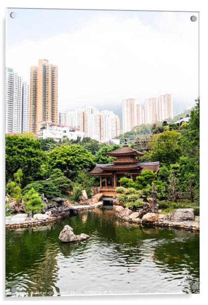
POLYGON ((78 137, 81 138, 81 141, 83 140, 84 132, 80 131, 79 128, 52 123, 51 121, 43 121, 39 124, 39 138, 52 138, 53 140, 58 141, 65 136, 70 140, 77 140, 78 137))

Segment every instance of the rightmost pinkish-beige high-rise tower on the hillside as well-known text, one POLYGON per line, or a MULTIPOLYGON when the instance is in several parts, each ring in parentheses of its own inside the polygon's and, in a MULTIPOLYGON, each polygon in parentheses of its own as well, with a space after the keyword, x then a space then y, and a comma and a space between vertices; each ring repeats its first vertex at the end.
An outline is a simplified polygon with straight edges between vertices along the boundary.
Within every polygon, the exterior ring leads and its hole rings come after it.
POLYGON ((161 95, 158 98, 158 120, 173 118, 171 94, 161 95))

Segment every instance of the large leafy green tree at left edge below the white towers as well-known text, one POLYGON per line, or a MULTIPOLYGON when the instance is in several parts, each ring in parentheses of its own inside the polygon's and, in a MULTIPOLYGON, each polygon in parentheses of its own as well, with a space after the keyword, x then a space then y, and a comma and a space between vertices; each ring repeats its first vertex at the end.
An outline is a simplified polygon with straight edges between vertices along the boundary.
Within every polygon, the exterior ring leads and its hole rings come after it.
POLYGON ((6 182, 21 168, 22 185, 41 177, 41 166, 46 161, 46 154, 41 151, 40 143, 28 136, 6 135, 6 182))

